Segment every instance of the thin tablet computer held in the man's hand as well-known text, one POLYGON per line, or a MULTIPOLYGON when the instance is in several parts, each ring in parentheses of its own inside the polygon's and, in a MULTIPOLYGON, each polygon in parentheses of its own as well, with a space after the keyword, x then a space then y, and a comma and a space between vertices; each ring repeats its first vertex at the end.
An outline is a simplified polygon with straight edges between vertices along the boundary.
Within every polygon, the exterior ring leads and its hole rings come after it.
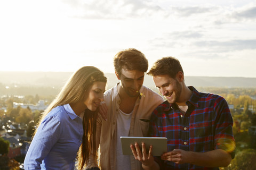
MULTIPOLYGON (((147 152, 149 151, 150 145, 153 146, 152 155, 161 156, 164 152, 167 152, 167 138, 161 137, 120 137, 122 143, 123 155, 133 155, 130 145, 134 145, 138 142, 141 150, 141 143, 144 142, 146 145, 147 152)), ((141 150, 142 152, 142 150, 141 150)))

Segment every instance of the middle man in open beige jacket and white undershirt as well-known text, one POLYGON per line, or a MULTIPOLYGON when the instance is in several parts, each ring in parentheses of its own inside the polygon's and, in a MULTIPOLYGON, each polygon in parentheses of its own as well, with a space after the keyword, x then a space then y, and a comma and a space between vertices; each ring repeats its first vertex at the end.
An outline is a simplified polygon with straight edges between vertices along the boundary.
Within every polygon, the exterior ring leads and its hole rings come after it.
POLYGON ((119 83, 105 92, 107 120, 97 121, 96 148, 99 162, 90 159, 86 168, 101 170, 137 170, 141 163, 133 156, 122 154, 121 136, 145 137, 153 110, 163 97, 143 86, 148 61, 137 49, 126 49, 114 57, 115 74, 119 83), (99 168, 98 168, 99 167, 99 168))

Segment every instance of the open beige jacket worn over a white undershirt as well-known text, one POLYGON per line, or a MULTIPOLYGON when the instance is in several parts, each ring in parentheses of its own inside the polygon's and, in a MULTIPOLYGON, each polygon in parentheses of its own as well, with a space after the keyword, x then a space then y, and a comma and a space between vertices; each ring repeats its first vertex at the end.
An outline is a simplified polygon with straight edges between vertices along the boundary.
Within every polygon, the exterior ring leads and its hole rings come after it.
MULTIPOLYGON (((130 136, 145 137, 148 134, 151 113, 161 103, 163 97, 151 89, 142 86, 141 98, 138 98, 132 113, 130 136)), ((107 121, 99 116, 97 121, 96 148, 99 147, 99 167, 101 170, 115 170, 116 166, 116 113, 121 100, 117 92, 117 85, 105 92, 105 102, 108 106, 107 121)), ((86 168, 97 167, 97 163, 90 159, 86 168)), ((142 169, 141 163, 131 156, 131 169, 142 169)))

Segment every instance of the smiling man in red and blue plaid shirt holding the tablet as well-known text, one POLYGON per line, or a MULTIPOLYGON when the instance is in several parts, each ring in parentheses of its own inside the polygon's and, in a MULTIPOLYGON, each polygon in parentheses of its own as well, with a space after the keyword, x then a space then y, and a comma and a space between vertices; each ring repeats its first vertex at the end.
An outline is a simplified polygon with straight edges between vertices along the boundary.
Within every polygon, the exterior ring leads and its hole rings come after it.
POLYGON ((233 118, 227 101, 187 87, 180 62, 163 57, 148 72, 166 101, 153 112, 149 135, 166 137, 167 152, 151 155, 142 143, 131 146, 143 169, 219 169, 235 157, 233 118))

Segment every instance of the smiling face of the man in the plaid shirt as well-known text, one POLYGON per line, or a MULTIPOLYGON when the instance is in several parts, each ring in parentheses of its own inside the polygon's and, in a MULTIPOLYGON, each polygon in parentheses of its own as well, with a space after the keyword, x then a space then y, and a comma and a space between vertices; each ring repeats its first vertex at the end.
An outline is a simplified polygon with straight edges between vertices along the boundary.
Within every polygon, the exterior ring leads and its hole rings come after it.
POLYGON ((179 102, 182 86, 177 79, 170 78, 169 75, 156 75, 153 80, 170 104, 179 102))

